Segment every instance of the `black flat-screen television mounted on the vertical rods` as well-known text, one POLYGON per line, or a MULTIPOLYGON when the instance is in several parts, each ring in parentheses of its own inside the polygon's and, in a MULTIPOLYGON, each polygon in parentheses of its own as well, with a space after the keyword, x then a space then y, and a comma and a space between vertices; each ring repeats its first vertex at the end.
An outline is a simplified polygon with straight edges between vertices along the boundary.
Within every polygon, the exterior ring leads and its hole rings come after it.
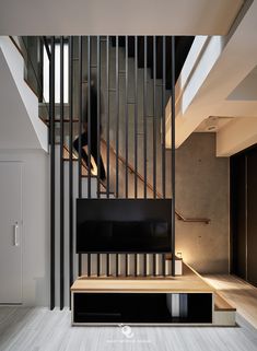
POLYGON ((77 253, 170 253, 171 199, 78 199, 77 253))

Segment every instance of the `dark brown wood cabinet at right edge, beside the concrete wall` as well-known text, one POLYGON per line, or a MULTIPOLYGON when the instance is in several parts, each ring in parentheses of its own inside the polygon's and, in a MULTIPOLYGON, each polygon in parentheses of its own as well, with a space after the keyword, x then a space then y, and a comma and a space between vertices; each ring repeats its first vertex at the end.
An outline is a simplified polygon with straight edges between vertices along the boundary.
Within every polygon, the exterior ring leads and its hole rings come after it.
POLYGON ((257 286, 257 147, 231 157, 232 273, 257 286))

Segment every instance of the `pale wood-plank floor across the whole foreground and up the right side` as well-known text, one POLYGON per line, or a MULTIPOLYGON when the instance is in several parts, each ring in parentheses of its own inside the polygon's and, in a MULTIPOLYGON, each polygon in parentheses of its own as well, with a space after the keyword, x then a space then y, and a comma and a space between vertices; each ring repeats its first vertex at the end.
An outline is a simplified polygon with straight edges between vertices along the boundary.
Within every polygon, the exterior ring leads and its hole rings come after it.
MULTIPOLYGON (((224 276, 208 277, 224 296, 249 317, 256 308, 255 289, 224 276), (229 289, 230 288, 230 289, 229 289), (250 288, 250 289, 249 289, 250 288), (247 303, 245 304, 242 297, 247 303), (252 297, 250 297, 252 296, 252 297), (241 307, 240 307, 241 305, 241 307), (247 307, 245 307, 247 305, 247 307)), ((257 315, 255 314, 255 318, 257 315)), ((254 318, 254 319, 255 319, 254 318)), ((237 327, 71 327, 70 311, 0 307, 1 351, 257 351, 257 329, 238 313, 237 327), (128 330, 127 330, 128 331, 128 330)))

